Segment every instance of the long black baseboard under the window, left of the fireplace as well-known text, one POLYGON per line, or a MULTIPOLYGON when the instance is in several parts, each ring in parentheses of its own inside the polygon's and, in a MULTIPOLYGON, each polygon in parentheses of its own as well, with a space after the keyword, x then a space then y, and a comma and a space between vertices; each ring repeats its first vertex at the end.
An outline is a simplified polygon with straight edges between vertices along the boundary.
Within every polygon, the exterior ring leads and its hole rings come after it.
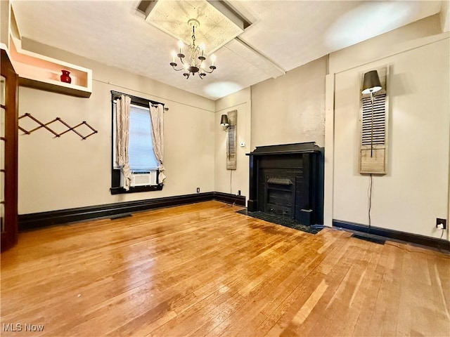
POLYGON ((82 220, 98 218, 117 218, 137 211, 160 209, 163 207, 193 204, 195 202, 218 200, 238 206, 245 206, 245 197, 242 195, 226 194, 221 192, 205 192, 179 195, 176 197, 164 197, 157 199, 145 199, 136 201, 117 202, 96 206, 78 207, 75 209, 61 209, 40 213, 20 214, 18 216, 19 230, 32 230, 34 228, 58 225, 61 223, 74 223, 82 220))

